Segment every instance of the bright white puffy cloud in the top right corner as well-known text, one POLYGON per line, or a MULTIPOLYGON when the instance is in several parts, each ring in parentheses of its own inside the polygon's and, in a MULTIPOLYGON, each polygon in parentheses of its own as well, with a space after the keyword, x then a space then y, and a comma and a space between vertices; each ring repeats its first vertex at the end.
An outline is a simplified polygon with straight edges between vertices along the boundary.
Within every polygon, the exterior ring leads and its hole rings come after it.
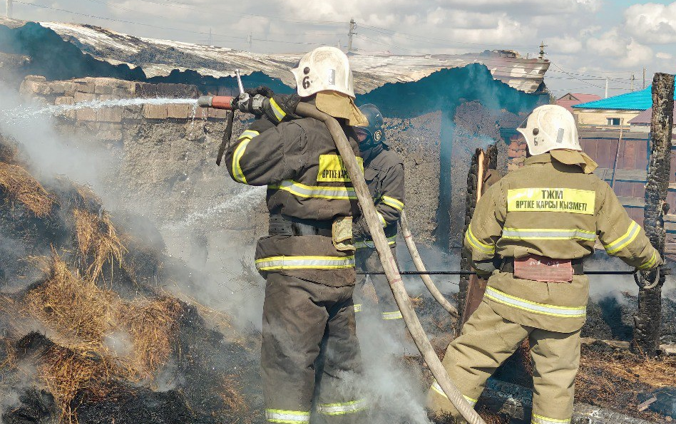
POLYGON ((625 30, 647 44, 676 43, 676 1, 635 4, 625 10, 625 30))

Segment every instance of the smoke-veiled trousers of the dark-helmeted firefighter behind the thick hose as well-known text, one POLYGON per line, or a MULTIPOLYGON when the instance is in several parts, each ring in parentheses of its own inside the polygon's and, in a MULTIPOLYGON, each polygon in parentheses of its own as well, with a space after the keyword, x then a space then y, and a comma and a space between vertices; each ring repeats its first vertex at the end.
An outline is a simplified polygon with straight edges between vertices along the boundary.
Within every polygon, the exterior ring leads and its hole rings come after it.
MULTIPOLYGON (((391 252, 392 256, 394 256, 394 261, 396 262, 396 249, 394 246, 391 247, 391 252)), ((357 269, 360 272, 383 272, 383 266, 376 249, 371 249, 369 247, 357 249, 355 261, 357 263, 357 269)), ((357 275, 357 286, 354 289, 354 311, 359 314, 361 312, 370 313, 377 309, 383 321, 391 324, 394 324, 395 322, 400 323, 402 321, 401 312, 399 311, 399 306, 396 305, 394 294, 392 294, 392 290, 389 287, 387 277, 384 274, 371 275, 369 277, 373 284, 373 288, 376 291, 378 306, 376 306, 375 302, 370 299, 369 296, 364 296, 364 293, 362 292, 367 281, 367 276, 357 275)), ((396 325, 403 326, 404 324, 396 325)))

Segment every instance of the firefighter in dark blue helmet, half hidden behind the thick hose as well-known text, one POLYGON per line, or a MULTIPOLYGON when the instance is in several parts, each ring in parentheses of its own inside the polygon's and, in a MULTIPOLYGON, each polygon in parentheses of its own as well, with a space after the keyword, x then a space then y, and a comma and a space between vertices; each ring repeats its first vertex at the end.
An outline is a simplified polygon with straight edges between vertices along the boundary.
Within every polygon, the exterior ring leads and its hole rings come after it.
MULTIPOLYGON (((359 110, 369 120, 369 125, 354 128, 359 138, 359 152, 364 159, 364 179, 369 186, 376 212, 383 224, 385 237, 396 259, 396 224, 401 210, 404 209, 404 162, 396 152, 389 150, 385 143, 383 117, 375 105, 363 105, 359 110)), ((354 246, 357 247, 357 268, 362 272, 383 272, 380 257, 375 248, 366 219, 359 217, 354 224, 354 246)), ((359 314, 374 304, 362 289, 366 275, 357 276, 357 288, 354 291, 354 311, 359 314), (367 306, 368 305, 368 306, 367 306)), ((389 282, 384 275, 372 275, 378 297, 379 314, 386 323, 401 322, 401 312, 396 306, 389 282)), ((364 311, 365 312, 365 311, 364 311)))

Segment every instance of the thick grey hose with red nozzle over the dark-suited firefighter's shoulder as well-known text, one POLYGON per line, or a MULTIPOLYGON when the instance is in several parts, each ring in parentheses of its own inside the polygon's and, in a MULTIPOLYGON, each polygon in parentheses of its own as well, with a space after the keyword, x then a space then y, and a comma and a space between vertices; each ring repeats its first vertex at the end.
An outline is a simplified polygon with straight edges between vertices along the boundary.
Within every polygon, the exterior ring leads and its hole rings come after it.
MULTIPOLYGON (((220 96, 209 97, 209 98, 200 98, 198 104, 203 107, 216 107, 220 106, 222 109, 232 110, 232 98, 223 98, 220 96)), ((476 413, 472 406, 468 403, 467 400, 460 393, 459 389, 449 378, 448 373, 444 369, 444 366, 441 365, 439 357, 436 356, 434 348, 432 347, 425 331, 423 330, 418 316, 411 305, 409 300, 409 294, 406 292, 404 287, 404 281, 402 281, 401 276, 399 275, 399 269, 396 266, 396 261, 394 256, 389 248, 389 244, 385 238, 385 233, 380 224, 380 219, 377 215, 376 208, 373 205, 373 200, 371 194, 369 193, 369 188, 367 187, 364 176, 362 175, 361 168, 357 164, 357 157, 354 156, 352 148, 347 141, 347 137, 343 132, 340 124, 335 118, 331 115, 327 115, 319 111, 314 105, 309 103, 299 103, 295 113, 307 118, 314 118, 322 121, 329 130, 331 137, 336 144, 339 154, 342 157, 345 168, 347 169, 348 175, 352 180, 352 185, 354 186, 354 191, 357 193, 357 200, 359 205, 362 207, 362 212, 364 218, 367 221, 369 227, 369 232, 373 238, 376 250, 380 257, 380 261, 385 270, 385 275, 389 281, 390 288, 394 294, 394 299, 396 300, 397 306, 399 306, 399 311, 401 311, 401 316, 404 318, 406 327, 411 333, 411 338, 413 338, 414 343, 418 350, 420 351, 422 357, 427 363, 429 370, 431 371, 436 382, 441 387, 441 390, 444 391, 446 397, 449 398, 451 403, 459 411, 459 413, 465 418, 470 424, 486 424, 483 419, 476 413)), ((223 140, 225 142, 225 138, 223 140)))

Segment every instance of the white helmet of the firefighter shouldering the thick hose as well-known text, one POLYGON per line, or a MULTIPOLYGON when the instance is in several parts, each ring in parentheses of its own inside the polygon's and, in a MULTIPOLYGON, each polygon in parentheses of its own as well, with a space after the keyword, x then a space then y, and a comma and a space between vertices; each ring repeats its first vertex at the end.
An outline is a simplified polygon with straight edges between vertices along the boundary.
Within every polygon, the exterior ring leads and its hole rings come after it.
POLYGON ((318 47, 305 55, 291 70, 300 97, 319 91, 337 91, 354 98, 352 70, 347 56, 339 48, 318 47))

